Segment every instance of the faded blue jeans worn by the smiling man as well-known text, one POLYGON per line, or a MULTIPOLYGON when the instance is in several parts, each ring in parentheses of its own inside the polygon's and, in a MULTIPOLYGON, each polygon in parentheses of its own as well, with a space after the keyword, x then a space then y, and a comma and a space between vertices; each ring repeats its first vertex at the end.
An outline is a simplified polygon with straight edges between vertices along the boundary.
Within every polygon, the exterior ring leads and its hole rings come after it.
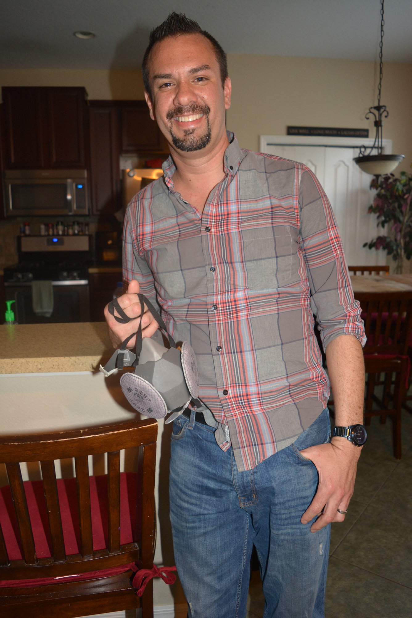
POLYGON ((312 533, 300 518, 316 493, 315 465, 299 451, 330 439, 328 410, 297 438, 247 472, 214 429, 173 423, 170 518, 189 618, 244 618, 255 545, 264 618, 323 618, 330 527, 312 533))

